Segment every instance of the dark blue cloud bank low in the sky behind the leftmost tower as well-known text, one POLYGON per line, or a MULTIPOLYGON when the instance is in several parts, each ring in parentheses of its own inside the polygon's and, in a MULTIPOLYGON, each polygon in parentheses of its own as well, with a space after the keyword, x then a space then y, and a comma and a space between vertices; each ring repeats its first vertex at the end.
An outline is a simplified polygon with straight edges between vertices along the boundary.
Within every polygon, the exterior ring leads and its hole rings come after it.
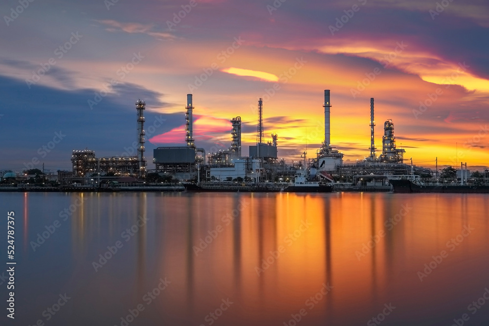
MULTIPOLYGON (((23 163, 33 157, 46 166, 68 168, 73 149, 89 148, 97 156, 118 156, 136 140, 136 114, 134 102, 146 100, 147 107, 165 108, 163 94, 133 84, 114 87, 102 101, 90 110, 88 100, 93 99, 94 89, 57 89, 35 85, 31 89, 23 81, 0 75, 1 129, 3 136, 0 151, 0 168, 21 170, 23 163), (15 103, 15 111, 12 111, 15 103), (38 149, 52 141, 54 133, 66 137, 45 157, 38 149)), ((147 110, 145 129, 155 128, 154 134, 178 126, 181 114, 164 114, 147 110), (164 122, 155 124, 157 119, 164 122)), ((147 144, 151 150, 152 145, 147 144)), ((151 161, 151 160, 150 160, 151 161)))

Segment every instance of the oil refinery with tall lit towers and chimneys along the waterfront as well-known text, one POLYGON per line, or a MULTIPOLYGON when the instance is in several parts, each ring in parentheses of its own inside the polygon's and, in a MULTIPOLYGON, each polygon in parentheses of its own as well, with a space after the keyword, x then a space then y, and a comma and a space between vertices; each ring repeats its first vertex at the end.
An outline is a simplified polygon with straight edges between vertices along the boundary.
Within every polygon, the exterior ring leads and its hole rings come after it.
MULTIPOLYGON (((108 178, 131 180, 132 185, 142 186, 148 173, 181 182, 187 189, 191 184, 199 190, 229 191, 279 191, 304 189, 305 185, 328 185, 333 190, 355 190, 372 187, 388 189, 389 177, 393 175, 430 174, 431 170, 404 163, 405 150, 396 145, 392 119, 385 120, 382 136, 382 153, 377 154, 375 145, 374 98, 370 99, 370 154, 356 163, 345 163, 343 153, 331 142, 331 92, 324 91, 324 142, 316 150, 315 157, 307 158, 304 151, 300 158, 290 164, 278 156, 278 135, 270 130, 270 140, 265 137, 264 102, 257 102, 256 143, 249 146, 249 155, 242 155, 242 119, 229 119, 231 146, 226 150, 206 153, 194 138, 192 94, 187 94, 185 104, 185 145, 158 147, 153 151, 154 170, 147 170, 145 153, 144 111, 146 103, 138 100, 136 109, 137 148, 134 156, 97 157, 89 149, 73 150, 72 171, 60 171, 62 185, 79 184, 101 186, 108 178), (298 180, 301 180, 300 182, 298 180), (237 185, 233 185, 237 184, 237 185), (253 185, 253 186, 252 186, 253 185), (187 187, 188 186, 188 187, 187 187), (234 188, 233 188, 234 187, 234 188)), ((182 139, 183 141, 183 139, 182 139)), ((306 187, 307 188, 307 187, 306 187)), ((182 188, 183 189, 183 188, 182 188)), ((195 189, 195 188, 194 188, 195 189)))

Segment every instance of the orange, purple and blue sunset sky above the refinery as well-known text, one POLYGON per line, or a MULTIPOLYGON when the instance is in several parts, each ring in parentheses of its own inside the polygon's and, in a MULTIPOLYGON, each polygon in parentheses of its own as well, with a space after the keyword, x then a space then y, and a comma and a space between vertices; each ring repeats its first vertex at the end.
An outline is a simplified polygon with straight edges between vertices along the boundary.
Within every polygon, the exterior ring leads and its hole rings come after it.
MULTIPOLYGON (((482 0, 5 0, 0 4, 0 170, 70 169, 71 151, 131 155, 185 143, 186 94, 207 153, 256 142, 263 98, 278 155, 369 155, 392 119, 404 158, 489 166, 489 2, 482 0)), ((151 168, 151 165, 150 165, 151 168)))

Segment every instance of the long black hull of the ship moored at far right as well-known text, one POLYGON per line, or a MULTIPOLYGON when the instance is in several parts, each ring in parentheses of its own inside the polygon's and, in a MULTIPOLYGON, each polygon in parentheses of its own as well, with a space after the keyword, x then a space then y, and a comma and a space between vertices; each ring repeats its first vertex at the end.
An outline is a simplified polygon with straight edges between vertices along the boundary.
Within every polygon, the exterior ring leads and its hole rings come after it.
POLYGON ((489 185, 422 185, 411 180, 389 180, 395 193, 489 194, 489 185))

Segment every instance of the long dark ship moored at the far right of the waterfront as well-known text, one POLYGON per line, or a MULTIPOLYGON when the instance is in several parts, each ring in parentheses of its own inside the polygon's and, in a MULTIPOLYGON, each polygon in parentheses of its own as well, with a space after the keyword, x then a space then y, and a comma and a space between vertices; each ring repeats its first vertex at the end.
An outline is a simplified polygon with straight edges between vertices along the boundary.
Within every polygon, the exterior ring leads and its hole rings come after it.
POLYGON ((458 182, 439 179, 390 178, 394 193, 489 194, 486 182, 458 182))

